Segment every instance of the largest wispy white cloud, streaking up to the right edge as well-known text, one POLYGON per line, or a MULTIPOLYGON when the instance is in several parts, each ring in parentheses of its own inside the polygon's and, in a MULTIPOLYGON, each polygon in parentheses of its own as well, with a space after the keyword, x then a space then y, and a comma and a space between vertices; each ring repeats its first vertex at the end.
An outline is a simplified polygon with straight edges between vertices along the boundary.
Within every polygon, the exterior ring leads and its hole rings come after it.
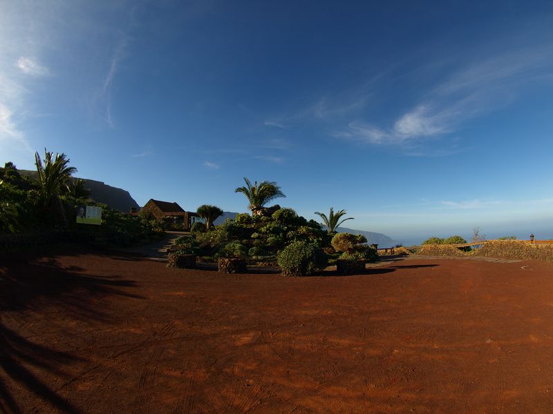
POLYGON ((551 70, 550 46, 509 50, 452 72, 388 128, 357 119, 330 135, 366 144, 411 148, 425 139, 458 132, 467 119, 503 108, 529 82, 551 82, 544 77, 551 70))

